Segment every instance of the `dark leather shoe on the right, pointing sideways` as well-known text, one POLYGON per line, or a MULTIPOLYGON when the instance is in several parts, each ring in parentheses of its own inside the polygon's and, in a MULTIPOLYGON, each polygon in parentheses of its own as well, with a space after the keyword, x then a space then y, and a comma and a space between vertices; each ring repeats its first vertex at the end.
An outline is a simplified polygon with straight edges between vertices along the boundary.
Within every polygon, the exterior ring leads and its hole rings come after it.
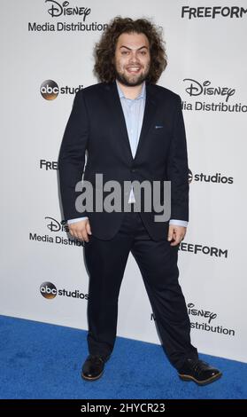
POLYGON ((206 385, 220 378, 222 373, 203 360, 187 359, 179 370, 179 376, 182 381, 194 381, 198 385, 206 385))

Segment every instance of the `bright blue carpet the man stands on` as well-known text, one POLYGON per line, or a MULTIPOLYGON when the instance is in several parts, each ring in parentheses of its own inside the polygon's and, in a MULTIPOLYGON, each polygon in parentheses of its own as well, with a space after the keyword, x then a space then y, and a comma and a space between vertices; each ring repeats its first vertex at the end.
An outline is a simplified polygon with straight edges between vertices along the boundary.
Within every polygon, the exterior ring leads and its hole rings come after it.
POLYGON ((247 398, 247 364, 201 355, 223 377, 205 387, 182 382, 156 344, 119 337, 104 375, 81 379, 86 332, 0 316, 0 398, 247 398))

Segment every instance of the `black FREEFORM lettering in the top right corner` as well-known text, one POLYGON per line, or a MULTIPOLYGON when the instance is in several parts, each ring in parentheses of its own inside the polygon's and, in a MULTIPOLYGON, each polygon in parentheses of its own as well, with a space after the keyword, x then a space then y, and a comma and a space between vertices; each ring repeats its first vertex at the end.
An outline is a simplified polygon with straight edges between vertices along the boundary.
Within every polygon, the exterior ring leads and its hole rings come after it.
POLYGON ((243 18, 247 13, 247 9, 238 6, 212 6, 212 7, 181 7, 181 19, 215 19, 216 17, 221 18, 243 18))

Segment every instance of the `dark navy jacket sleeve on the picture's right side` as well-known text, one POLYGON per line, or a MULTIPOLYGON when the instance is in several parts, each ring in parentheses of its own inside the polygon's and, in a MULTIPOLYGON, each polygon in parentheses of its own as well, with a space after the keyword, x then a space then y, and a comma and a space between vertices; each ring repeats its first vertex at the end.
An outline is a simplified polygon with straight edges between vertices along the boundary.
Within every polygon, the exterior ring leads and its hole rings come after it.
POLYGON ((171 181, 171 218, 189 221, 188 154, 179 96, 177 96, 174 109, 173 138, 168 156, 167 179, 171 181))

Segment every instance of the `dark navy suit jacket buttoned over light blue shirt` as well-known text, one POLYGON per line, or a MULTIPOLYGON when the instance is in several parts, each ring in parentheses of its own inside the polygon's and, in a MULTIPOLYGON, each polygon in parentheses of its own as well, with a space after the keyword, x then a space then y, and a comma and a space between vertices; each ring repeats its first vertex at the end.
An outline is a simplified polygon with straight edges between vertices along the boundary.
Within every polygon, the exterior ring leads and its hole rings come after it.
MULTIPOLYGON (((189 220, 189 181, 181 98, 171 90, 146 84, 143 127, 133 158, 116 83, 98 83, 76 93, 58 158, 60 192, 65 219, 89 216, 92 233, 110 240, 120 229, 124 213, 79 213, 75 209, 85 152, 84 179, 95 184, 117 180, 171 181, 171 218, 189 220), (161 126, 156 128, 156 126, 161 126)), ((166 196, 165 196, 166 198, 166 196)), ((154 213, 141 212, 153 240, 164 240, 168 222, 156 223, 154 213)))

